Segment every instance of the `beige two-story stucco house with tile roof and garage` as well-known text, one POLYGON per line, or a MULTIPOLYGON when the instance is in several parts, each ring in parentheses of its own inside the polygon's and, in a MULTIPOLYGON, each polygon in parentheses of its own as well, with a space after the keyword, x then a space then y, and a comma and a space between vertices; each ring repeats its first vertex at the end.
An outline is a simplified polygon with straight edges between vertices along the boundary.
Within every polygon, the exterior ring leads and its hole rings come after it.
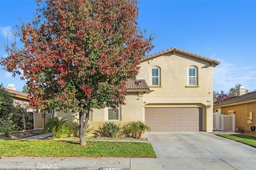
MULTIPOLYGON (((126 105, 93 109, 89 125, 143 121, 152 131, 212 132, 213 68, 219 63, 175 47, 143 58, 138 80, 128 80, 126 105)), ((73 121, 77 115, 55 112, 73 121)))

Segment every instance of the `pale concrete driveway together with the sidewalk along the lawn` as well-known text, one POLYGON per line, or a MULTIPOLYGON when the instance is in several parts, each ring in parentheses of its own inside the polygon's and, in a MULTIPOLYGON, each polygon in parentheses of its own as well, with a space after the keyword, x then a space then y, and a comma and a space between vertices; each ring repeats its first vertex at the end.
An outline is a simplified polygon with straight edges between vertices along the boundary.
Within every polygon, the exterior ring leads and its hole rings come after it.
POLYGON ((206 132, 150 132, 157 158, 2 157, 2 169, 252 170, 256 148, 206 132))

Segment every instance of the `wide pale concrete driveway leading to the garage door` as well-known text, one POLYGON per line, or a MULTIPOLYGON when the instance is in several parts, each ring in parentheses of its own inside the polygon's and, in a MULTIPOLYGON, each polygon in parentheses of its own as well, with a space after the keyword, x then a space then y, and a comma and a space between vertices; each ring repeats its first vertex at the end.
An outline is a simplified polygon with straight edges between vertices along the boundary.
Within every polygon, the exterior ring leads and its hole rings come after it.
POLYGON ((157 156, 150 164, 140 160, 145 169, 252 170, 256 167, 256 148, 210 133, 150 132, 145 137, 157 156))

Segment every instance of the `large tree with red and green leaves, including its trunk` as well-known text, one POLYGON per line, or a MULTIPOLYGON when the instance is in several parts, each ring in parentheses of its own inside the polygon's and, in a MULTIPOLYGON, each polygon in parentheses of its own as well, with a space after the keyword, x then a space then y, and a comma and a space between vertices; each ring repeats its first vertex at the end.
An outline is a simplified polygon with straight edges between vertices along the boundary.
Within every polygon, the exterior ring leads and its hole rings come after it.
POLYGON ((14 34, 24 48, 7 46, 1 64, 28 80, 32 108, 78 112, 80 144, 86 145, 90 109, 125 104, 126 81, 138 74, 152 35, 145 38, 137 27, 136 0, 37 3, 32 23, 14 34))

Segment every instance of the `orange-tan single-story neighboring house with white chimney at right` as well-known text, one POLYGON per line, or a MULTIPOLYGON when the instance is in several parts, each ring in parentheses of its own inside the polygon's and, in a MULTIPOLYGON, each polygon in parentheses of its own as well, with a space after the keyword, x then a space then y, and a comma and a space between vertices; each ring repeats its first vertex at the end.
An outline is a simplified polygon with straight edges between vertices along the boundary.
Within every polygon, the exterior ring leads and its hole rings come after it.
POLYGON ((224 115, 236 115, 235 127, 241 133, 256 135, 251 127, 256 126, 256 90, 247 93, 244 86, 240 86, 237 96, 214 102, 214 112, 224 115))

